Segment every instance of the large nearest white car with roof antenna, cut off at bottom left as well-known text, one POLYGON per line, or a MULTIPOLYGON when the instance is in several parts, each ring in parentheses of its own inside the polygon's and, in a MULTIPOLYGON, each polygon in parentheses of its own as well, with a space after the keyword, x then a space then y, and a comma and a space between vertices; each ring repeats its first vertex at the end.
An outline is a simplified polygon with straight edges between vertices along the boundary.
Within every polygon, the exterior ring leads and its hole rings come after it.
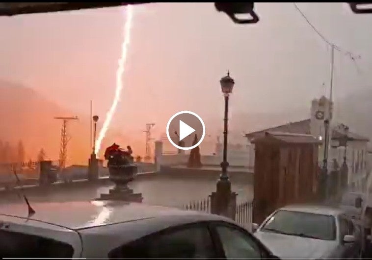
POLYGON ((0 208, 6 258, 272 258, 234 221, 142 203, 63 202, 0 208))

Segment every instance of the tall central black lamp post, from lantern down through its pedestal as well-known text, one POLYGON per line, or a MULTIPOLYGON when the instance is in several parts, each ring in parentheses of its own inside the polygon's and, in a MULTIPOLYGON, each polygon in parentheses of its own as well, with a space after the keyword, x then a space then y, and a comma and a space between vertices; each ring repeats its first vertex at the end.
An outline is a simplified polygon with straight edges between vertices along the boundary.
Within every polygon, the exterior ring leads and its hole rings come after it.
POLYGON ((230 77, 229 71, 227 75, 222 77, 219 81, 221 85, 221 90, 225 98, 225 113, 224 113, 224 129, 223 129, 223 156, 221 162, 222 172, 217 181, 216 192, 212 192, 211 200, 211 213, 224 215, 235 219, 236 210, 236 196, 237 193, 231 192, 231 182, 227 174, 227 167, 229 163, 227 162, 227 134, 228 134, 228 112, 229 112, 229 95, 233 91, 234 79, 230 77))

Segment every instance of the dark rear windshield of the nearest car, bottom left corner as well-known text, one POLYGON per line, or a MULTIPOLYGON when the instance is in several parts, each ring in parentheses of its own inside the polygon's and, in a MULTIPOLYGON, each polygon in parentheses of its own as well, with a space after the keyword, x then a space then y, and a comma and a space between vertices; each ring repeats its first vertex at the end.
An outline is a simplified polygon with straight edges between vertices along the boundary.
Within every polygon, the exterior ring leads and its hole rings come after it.
POLYGON ((51 238, 0 230, 2 258, 64 258, 71 259, 74 248, 51 238))

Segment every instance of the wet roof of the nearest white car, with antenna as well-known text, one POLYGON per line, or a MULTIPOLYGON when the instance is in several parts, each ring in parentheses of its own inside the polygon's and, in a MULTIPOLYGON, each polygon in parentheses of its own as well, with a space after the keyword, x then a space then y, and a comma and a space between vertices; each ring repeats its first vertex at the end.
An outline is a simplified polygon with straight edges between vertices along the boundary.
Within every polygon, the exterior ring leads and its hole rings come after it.
POLYGON ((26 204, 10 204, 0 208, 1 216, 14 216, 65 227, 82 230, 115 223, 156 219, 158 222, 173 221, 183 224, 196 220, 229 219, 194 211, 184 211, 164 206, 143 203, 125 203, 112 201, 75 201, 32 203, 35 214, 27 218, 26 204))

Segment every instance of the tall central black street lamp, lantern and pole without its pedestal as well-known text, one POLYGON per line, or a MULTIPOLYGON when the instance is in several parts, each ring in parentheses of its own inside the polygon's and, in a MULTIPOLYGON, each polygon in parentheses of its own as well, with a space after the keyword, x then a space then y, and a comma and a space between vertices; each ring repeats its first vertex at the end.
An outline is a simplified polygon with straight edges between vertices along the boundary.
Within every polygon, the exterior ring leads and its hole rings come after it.
POLYGON ((225 97, 225 117, 223 119, 223 159, 221 163, 222 173, 220 175, 220 180, 227 181, 229 180, 229 176, 227 175, 227 167, 229 166, 229 163, 227 162, 227 121, 229 112, 229 95, 233 92, 235 81, 232 77, 230 77, 230 72, 227 71, 227 75, 222 77, 219 82, 221 84, 221 91, 225 97))

